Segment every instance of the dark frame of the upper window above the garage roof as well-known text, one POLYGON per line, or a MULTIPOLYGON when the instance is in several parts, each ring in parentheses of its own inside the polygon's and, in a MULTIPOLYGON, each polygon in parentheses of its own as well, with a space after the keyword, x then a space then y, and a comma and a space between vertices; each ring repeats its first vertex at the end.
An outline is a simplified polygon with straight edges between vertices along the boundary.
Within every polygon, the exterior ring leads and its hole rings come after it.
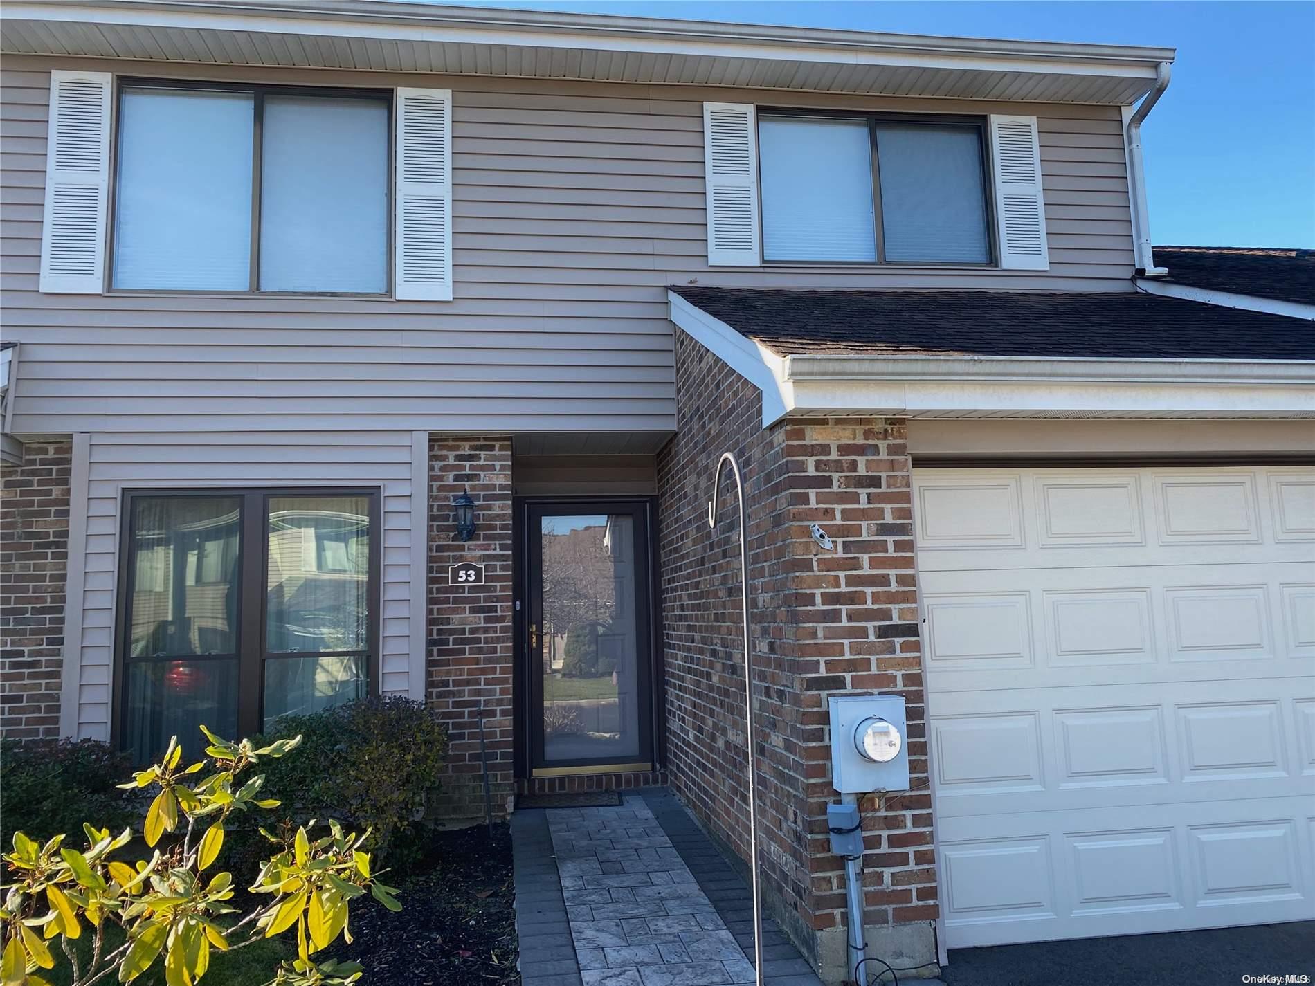
POLYGON ((972 116, 972 114, 955 114, 955 113, 889 113, 889 112, 855 112, 855 110, 832 110, 832 109, 813 109, 813 108, 796 108, 796 106, 759 106, 755 118, 755 139, 759 141, 759 154, 757 154, 757 221, 759 229, 764 230, 760 237, 759 243, 759 260, 767 266, 785 266, 785 267, 930 267, 930 268, 948 268, 948 270, 998 270, 999 268, 999 237, 997 233, 997 218, 995 218, 995 196, 993 193, 994 181, 992 180, 992 149, 990 149, 990 128, 986 117, 972 116), (761 125, 763 120, 848 120, 848 121, 864 121, 868 126, 868 150, 871 158, 871 171, 872 171, 872 221, 876 225, 876 259, 874 260, 789 260, 780 258, 767 256, 767 234, 765 234, 765 208, 767 196, 763 195, 763 154, 761 154, 761 141, 759 139, 757 128, 761 125), (988 259, 982 262, 964 262, 964 260, 888 260, 886 252, 886 238, 885 229, 882 223, 881 214, 881 164, 877 154, 877 128, 881 124, 899 124, 899 125, 926 125, 926 126, 970 126, 978 133, 978 146, 981 147, 981 176, 982 176, 982 210, 984 218, 986 220, 986 251, 988 259))

